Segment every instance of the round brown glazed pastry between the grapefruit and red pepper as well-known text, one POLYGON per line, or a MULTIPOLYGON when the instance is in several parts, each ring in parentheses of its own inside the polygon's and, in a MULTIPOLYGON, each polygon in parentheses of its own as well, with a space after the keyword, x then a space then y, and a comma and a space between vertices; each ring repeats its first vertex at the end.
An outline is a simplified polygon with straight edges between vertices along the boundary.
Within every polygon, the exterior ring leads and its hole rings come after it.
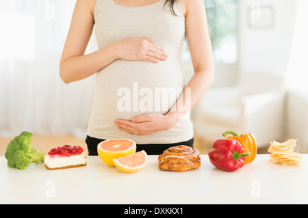
POLYGON ((200 152, 188 146, 168 148, 158 156, 159 169, 168 171, 188 171, 201 165, 200 152))

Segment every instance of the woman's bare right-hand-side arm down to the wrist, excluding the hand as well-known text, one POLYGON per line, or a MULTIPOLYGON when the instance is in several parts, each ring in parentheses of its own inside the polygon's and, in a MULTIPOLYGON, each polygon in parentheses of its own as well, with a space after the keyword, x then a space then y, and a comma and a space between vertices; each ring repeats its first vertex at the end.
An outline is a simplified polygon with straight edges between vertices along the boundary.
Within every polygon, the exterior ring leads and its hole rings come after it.
POLYGON ((207 16, 202 0, 183 0, 185 4, 185 27, 194 75, 177 102, 167 113, 169 128, 190 111, 214 83, 214 58, 207 28, 207 16), (188 92, 189 91, 189 92, 188 92), (187 94, 189 96, 187 96, 187 94), (188 100, 186 103, 185 100, 188 100))

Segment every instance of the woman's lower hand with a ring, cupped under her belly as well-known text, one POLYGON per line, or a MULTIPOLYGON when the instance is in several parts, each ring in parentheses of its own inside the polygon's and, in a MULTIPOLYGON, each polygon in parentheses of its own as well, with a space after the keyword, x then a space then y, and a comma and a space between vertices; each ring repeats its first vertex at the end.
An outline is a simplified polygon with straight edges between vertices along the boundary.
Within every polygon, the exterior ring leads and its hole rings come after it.
POLYGON ((118 126, 118 129, 132 135, 149 135, 158 131, 166 131, 174 125, 169 115, 160 113, 138 115, 131 121, 119 119, 114 124, 118 126))

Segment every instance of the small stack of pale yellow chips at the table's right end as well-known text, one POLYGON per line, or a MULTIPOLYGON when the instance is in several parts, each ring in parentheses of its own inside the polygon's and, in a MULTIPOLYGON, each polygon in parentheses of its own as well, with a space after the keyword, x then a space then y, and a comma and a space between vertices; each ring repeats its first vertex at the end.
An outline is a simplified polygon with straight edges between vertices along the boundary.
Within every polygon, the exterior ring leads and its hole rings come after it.
POLYGON ((277 163, 279 165, 299 165, 301 155, 294 152, 294 147, 296 146, 295 139, 289 139, 283 143, 277 141, 270 142, 270 161, 277 163))

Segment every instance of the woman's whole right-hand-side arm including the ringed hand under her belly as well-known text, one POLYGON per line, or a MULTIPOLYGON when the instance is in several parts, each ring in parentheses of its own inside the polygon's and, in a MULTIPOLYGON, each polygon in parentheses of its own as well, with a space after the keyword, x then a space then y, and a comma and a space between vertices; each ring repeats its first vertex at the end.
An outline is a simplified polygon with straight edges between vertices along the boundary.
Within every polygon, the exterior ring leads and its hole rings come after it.
POLYGON ((166 115, 149 113, 138 115, 131 121, 116 120, 114 124, 123 131, 131 134, 136 131, 138 135, 149 135, 171 128, 196 105, 214 83, 214 59, 203 1, 180 0, 180 5, 185 15, 186 36, 192 55, 194 76, 166 115))

